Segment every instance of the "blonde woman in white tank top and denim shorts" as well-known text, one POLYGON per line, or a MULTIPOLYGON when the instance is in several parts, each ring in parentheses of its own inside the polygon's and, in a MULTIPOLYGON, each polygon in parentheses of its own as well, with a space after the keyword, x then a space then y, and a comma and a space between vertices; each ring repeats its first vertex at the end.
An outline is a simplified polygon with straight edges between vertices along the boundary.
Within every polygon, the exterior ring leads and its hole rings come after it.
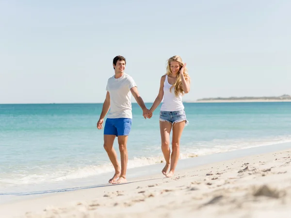
POLYGON ((185 125, 188 124, 182 96, 190 91, 190 77, 187 73, 186 63, 182 62, 180 56, 176 55, 168 60, 167 72, 161 78, 160 91, 154 101, 150 111, 160 105, 160 130, 162 139, 162 154, 166 165, 162 173, 166 177, 174 175, 175 168, 179 159, 180 138, 185 125), (169 148, 170 132, 173 129, 172 154, 169 148), (169 173, 167 171, 169 170, 169 173))

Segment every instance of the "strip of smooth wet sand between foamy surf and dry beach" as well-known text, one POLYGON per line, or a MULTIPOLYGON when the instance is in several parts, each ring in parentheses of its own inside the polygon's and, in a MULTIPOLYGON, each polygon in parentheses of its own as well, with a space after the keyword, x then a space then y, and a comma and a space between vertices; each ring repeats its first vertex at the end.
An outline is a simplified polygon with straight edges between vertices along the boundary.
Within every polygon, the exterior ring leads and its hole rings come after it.
MULTIPOLYGON (((249 148, 241 148, 237 150, 230 150, 225 152, 217 152, 209 155, 202 156, 193 156, 188 158, 179 159, 178 166, 176 170, 185 170, 188 168, 198 167, 201 165, 207 165, 210 163, 226 161, 233 158, 240 158, 243 156, 249 155, 259 155, 263 153, 273 152, 276 150, 284 150, 291 147, 291 142, 280 142, 269 145, 259 145, 255 147, 249 148)), ((127 177, 128 179, 135 179, 140 176, 148 176, 150 177, 153 174, 159 174, 159 169, 164 167, 164 162, 149 164, 145 166, 139 166, 134 168, 127 169, 127 177)), ((99 173, 93 176, 59 181, 59 182, 51 182, 47 184, 34 184, 22 187, 17 187, 15 190, 8 190, 0 192, 0 196, 2 196, 2 201, 0 201, 0 205, 7 202, 15 202, 17 200, 22 200, 21 198, 25 197, 16 197, 16 196, 27 196, 32 197, 36 195, 47 195, 50 193, 59 193, 64 191, 74 191, 84 188, 90 187, 99 187, 108 182, 108 178, 112 177, 114 170, 112 168, 111 171, 106 171, 103 173, 99 173), (83 182, 81 182, 83 180, 83 182), (49 186, 47 186, 49 185, 49 186), (31 189, 33 187, 33 190, 31 189), (47 187, 47 188, 44 188, 47 187), (6 201, 3 199, 6 198, 6 201)))

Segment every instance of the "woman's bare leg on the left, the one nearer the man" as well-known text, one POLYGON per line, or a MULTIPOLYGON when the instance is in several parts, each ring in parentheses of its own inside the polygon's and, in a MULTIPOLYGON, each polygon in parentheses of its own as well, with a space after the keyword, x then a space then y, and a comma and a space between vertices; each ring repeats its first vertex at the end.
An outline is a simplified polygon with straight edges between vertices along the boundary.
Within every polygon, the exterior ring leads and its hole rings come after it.
POLYGON ((171 159, 170 159, 171 150, 169 148, 171 129, 172 129, 171 123, 166 122, 166 121, 160 121, 162 154, 163 154, 165 161, 166 161, 166 165, 162 169, 162 174, 164 174, 164 175, 167 174, 167 171, 169 170, 170 164, 171 164, 171 159))

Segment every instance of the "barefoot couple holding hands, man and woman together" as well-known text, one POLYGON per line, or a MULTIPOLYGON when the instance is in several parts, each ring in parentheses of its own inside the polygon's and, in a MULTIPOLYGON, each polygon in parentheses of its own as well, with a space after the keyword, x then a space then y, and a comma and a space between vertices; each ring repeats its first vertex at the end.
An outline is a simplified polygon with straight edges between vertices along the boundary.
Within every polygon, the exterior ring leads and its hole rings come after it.
POLYGON ((162 141, 162 154, 166 165, 162 173, 166 177, 174 175, 179 158, 179 146, 182 131, 188 124, 182 96, 190 91, 190 77, 186 63, 179 56, 168 59, 166 74, 162 76, 159 94, 152 107, 147 109, 142 97, 139 95, 137 85, 132 77, 124 73, 126 59, 116 56, 113 59, 115 74, 108 79, 106 86, 106 98, 103 103, 102 112, 97 122, 97 128, 102 129, 104 118, 108 113, 104 126, 104 149, 113 164, 115 173, 109 183, 126 183, 126 171, 128 163, 127 140, 131 129, 131 94, 143 110, 145 118, 151 118, 153 111, 163 103, 160 111, 160 131, 162 141), (109 111, 110 109, 110 111, 109 111), (109 112, 108 112, 109 111, 109 112), (170 145, 170 133, 172 133, 172 153, 170 145), (113 142, 117 136, 121 167, 117 154, 113 148, 113 142))

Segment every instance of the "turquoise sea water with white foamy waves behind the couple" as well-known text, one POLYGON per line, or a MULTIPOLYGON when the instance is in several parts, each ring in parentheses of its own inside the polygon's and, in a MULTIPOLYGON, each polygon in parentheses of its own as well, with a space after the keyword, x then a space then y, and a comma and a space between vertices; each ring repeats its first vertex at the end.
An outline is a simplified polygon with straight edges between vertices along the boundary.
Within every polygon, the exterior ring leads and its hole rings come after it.
MULTIPOLYGON (((180 158, 291 141, 291 102, 184 106, 189 125, 180 158)), ((161 162, 160 108, 146 120, 137 104, 132 108, 129 168, 161 162)), ((113 171, 103 130, 96 128, 101 109, 102 104, 0 105, 0 193, 51 183, 69 187, 76 179, 81 186, 82 180, 113 171)), ((118 151, 117 140, 114 147, 118 151)))

